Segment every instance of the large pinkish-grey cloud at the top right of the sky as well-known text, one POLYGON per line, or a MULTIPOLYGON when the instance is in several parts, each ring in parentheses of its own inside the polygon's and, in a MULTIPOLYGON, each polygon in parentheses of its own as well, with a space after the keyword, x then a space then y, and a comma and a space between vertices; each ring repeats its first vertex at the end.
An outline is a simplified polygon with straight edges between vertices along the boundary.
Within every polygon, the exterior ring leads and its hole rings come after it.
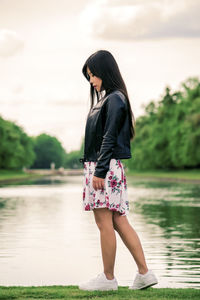
POLYGON ((82 13, 94 38, 142 40, 200 37, 200 1, 94 1, 82 13))

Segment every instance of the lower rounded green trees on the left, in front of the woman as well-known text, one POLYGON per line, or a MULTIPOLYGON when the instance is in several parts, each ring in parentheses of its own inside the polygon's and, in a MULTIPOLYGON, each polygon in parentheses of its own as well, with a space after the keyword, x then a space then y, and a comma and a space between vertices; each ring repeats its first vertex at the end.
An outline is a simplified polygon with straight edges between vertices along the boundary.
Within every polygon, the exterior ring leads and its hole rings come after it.
POLYGON ((79 166, 74 153, 67 154, 56 137, 46 133, 28 136, 21 126, 0 117, 0 169, 49 169, 52 162, 55 168, 79 166))

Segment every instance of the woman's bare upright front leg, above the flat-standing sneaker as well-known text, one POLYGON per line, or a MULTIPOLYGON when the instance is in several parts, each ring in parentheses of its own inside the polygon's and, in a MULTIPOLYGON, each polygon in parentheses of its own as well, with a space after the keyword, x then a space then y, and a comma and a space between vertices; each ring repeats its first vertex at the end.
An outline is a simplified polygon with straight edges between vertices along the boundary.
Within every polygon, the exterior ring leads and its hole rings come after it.
POLYGON ((100 230, 104 273, 107 279, 113 279, 116 256, 116 235, 113 227, 113 212, 108 208, 94 208, 93 212, 96 224, 100 230))

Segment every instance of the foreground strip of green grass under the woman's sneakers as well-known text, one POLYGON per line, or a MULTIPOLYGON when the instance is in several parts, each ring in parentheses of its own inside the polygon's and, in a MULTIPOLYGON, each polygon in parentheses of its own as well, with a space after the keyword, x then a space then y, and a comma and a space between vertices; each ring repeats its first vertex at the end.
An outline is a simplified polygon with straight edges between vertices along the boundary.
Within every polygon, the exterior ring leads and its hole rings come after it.
POLYGON ((198 289, 149 288, 146 290, 129 290, 119 287, 118 291, 82 291, 78 286, 0 286, 0 300, 40 300, 40 299, 133 299, 133 300, 189 300, 200 299, 198 289))

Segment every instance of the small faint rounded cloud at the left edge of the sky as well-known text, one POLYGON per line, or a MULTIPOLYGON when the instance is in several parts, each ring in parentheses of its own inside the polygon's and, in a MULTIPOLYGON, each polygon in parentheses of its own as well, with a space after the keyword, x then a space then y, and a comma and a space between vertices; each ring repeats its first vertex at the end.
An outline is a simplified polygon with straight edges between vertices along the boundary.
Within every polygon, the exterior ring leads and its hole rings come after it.
POLYGON ((24 48, 23 39, 14 31, 0 30, 0 56, 12 56, 24 48))

